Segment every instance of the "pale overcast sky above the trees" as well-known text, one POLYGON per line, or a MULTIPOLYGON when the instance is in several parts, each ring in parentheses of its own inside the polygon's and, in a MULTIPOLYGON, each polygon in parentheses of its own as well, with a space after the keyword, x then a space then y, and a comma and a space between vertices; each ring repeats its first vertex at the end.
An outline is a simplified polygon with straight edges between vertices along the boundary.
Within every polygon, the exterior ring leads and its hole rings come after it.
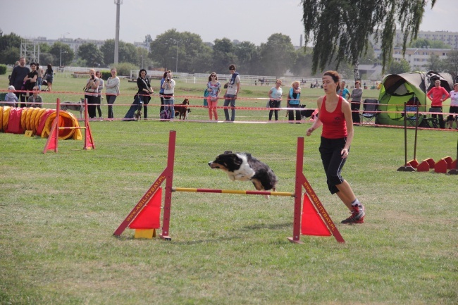
MULTIPOLYGON (((368 0, 371 1, 371 0, 368 0)), ((374 0, 376 1, 376 0, 374 0)), ((166 30, 192 32, 204 42, 228 38, 256 45, 274 33, 299 45, 300 0, 121 0, 120 40, 142 42, 166 30)), ((0 0, 0 28, 21 37, 114 39, 114 0, 0 0), (36 11, 34 18, 32 12, 36 11)), ((458 31, 458 0, 428 4, 421 30, 458 31)))

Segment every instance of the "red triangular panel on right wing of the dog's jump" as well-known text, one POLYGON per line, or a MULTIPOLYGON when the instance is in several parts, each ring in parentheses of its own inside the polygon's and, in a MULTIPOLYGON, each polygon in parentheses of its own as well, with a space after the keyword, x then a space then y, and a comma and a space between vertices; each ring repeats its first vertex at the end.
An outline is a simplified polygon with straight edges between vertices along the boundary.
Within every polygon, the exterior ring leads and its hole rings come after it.
POLYGON ((302 207, 301 234, 314 236, 330 236, 331 232, 324 223, 321 216, 316 211, 309 199, 309 195, 304 194, 304 205, 302 207))

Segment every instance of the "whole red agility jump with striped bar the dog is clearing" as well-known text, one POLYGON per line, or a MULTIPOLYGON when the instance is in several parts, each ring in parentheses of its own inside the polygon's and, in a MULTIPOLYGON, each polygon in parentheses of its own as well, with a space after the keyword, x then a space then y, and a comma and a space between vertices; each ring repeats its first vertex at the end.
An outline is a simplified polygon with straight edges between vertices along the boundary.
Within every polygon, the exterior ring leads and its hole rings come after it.
MULTIPOLYGON (((159 178, 149 187, 147 192, 143 195, 140 201, 132 208, 128 216, 120 223, 119 227, 113 233, 115 236, 120 236, 126 228, 132 228, 132 223, 140 218, 143 210, 147 210, 149 206, 156 206, 155 214, 157 220, 152 223, 158 224, 156 228, 162 228, 159 235, 161 239, 171 240, 170 236, 170 222, 171 222, 171 205, 173 192, 204 192, 204 193, 221 193, 221 194, 246 194, 246 195, 271 195, 271 196, 285 196, 294 197, 294 218, 292 237, 287 239, 290 242, 301 244, 300 235, 317 235, 317 236, 330 236, 333 235, 338 242, 345 242, 340 235, 338 228, 331 220, 328 212, 321 204, 320 199, 316 196, 314 189, 311 188, 309 181, 305 178, 303 170, 304 159, 304 137, 297 138, 297 151, 296 151, 296 175, 295 175, 295 192, 263 192, 263 191, 243 191, 235 189, 204 189, 204 188, 186 188, 186 187, 173 187, 173 166, 175 163, 175 140, 176 132, 171 130, 168 139, 168 158, 167 167, 163 170, 159 178), (161 185, 166 183, 164 205, 163 205, 163 220, 162 227, 160 223, 160 208, 161 208, 161 185), (304 208, 302 210, 302 187, 304 187, 304 208), (159 191, 159 192, 158 192, 159 191), (157 193, 157 194, 156 194, 157 193), (156 196, 155 196, 156 195, 156 196), (306 211, 307 210, 307 211, 306 211), (137 217, 138 216, 138 217, 137 217), (302 220, 302 225, 301 225, 302 220), (305 221, 308 220, 308 221, 305 221)), ((151 223, 151 221, 149 221, 151 223)), ((140 228, 140 227, 137 227, 140 228)), ((154 227, 151 227, 151 232, 154 227)), ((153 234, 153 233, 151 233, 153 234)), ((154 231, 155 234, 155 231, 154 231)), ((155 236, 155 235, 152 235, 155 236)))

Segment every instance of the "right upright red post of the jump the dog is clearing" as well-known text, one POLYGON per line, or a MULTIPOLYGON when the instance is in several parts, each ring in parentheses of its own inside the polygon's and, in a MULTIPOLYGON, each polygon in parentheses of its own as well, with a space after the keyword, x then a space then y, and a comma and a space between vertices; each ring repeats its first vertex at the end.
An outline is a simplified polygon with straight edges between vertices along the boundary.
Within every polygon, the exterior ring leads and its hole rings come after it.
POLYGON ((288 237, 290 242, 302 244, 301 236, 301 199, 302 199, 302 183, 304 174, 304 137, 297 138, 296 149, 296 182, 295 182, 295 208, 294 218, 292 223, 292 237, 288 237))

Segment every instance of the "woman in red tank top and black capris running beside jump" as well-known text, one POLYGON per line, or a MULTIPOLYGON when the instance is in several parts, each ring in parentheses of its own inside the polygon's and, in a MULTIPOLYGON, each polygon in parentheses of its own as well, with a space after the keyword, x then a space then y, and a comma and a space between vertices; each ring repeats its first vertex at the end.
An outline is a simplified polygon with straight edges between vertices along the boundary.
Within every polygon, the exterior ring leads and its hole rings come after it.
POLYGON ((364 223, 364 206, 354 196, 352 187, 340 175, 353 140, 353 121, 349 102, 336 93, 339 87, 340 75, 335 71, 326 71, 323 74, 323 89, 326 95, 316 101, 319 109, 318 118, 307 130, 307 136, 323 125, 319 151, 328 188, 331 194, 338 195, 352 214, 342 220, 342 223, 364 223))

